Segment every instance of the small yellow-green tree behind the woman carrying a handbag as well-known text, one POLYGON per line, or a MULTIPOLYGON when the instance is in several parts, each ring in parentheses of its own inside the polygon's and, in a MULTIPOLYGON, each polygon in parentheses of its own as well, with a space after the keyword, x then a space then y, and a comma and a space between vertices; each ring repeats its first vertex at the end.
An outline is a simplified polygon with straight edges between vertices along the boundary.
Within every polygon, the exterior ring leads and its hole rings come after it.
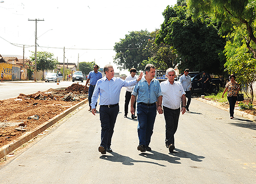
POLYGON ((239 53, 236 57, 230 58, 230 63, 226 64, 230 74, 236 75, 236 81, 246 84, 250 89, 250 102, 253 101, 253 83, 256 82, 256 59, 252 57, 252 53, 239 53))

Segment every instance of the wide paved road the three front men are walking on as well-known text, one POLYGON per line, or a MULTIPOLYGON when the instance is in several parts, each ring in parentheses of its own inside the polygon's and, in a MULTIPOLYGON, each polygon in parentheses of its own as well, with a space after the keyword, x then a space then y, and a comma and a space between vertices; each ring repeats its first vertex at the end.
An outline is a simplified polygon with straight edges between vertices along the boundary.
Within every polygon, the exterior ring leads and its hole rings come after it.
POLYGON ((256 183, 255 122, 231 120, 227 111, 192 99, 191 111, 180 115, 174 153, 165 147, 163 115, 156 117, 152 151, 141 153, 137 120, 123 117, 124 96, 123 88, 112 153, 98 152, 99 113, 85 104, 0 167, 0 184, 256 183))

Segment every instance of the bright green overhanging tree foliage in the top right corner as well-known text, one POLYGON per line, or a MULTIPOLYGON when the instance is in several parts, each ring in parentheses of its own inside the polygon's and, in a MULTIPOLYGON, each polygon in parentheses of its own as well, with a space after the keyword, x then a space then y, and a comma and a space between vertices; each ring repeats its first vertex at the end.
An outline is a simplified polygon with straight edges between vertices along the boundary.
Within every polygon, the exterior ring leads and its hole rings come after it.
POLYGON ((193 20, 212 17, 221 23, 222 30, 242 34, 240 41, 244 41, 256 58, 255 0, 187 0, 187 4, 193 20))

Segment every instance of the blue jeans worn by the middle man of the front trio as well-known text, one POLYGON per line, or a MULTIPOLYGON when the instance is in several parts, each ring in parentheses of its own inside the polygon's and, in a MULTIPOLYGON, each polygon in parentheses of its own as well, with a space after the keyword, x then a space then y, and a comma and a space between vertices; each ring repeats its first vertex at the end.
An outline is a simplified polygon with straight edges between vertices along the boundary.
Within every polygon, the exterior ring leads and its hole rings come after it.
POLYGON ((156 104, 150 107, 143 104, 137 104, 137 116, 139 121, 137 127, 139 144, 148 146, 153 134, 156 104))

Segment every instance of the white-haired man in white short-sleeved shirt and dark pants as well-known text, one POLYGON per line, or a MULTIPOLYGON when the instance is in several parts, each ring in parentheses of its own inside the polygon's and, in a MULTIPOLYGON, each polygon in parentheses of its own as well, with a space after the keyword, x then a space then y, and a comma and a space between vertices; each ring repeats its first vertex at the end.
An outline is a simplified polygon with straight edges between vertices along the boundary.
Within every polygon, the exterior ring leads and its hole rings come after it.
MULTIPOLYGON (((178 81, 174 81, 175 70, 169 68, 166 71, 168 80, 161 82, 161 90, 163 94, 163 110, 166 122, 166 139, 165 145, 170 152, 175 149, 174 134, 178 128, 180 102, 186 104, 185 92, 182 85, 178 81)), ((182 114, 185 113, 186 107, 182 106, 182 114)))

